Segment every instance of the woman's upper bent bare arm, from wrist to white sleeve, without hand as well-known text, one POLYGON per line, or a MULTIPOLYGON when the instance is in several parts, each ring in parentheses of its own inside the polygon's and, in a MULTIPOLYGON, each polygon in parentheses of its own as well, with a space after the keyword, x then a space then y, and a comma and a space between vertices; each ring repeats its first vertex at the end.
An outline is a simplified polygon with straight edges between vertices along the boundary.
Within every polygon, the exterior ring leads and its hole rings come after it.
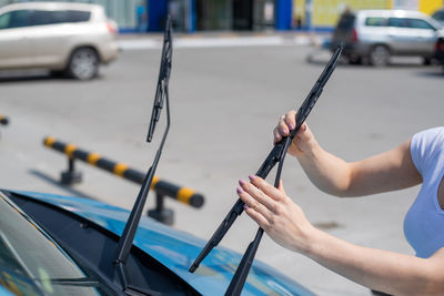
POLYGON ((410 139, 395 149, 359 162, 345 162, 317 143, 295 156, 316 187, 336 196, 363 196, 422 182, 410 154, 410 139))

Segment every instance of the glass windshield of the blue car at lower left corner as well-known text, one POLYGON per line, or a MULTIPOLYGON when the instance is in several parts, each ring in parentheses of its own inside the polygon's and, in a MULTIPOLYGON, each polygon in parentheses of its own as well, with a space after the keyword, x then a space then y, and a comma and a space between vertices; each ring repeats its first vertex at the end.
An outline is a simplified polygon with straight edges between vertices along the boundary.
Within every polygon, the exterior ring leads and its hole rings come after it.
POLYGON ((0 195, 0 285, 16 295, 102 295, 82 269, 0 195))

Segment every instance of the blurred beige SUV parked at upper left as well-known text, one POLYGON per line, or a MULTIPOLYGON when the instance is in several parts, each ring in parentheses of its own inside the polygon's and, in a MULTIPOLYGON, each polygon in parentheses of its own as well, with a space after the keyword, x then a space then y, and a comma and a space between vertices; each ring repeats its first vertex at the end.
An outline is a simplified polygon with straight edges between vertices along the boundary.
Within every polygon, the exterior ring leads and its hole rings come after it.
POLYGON ((0 8, 0 70, 43 68, 79 80, 118 57, 117 23, 97 4, 26 2, 0 8))

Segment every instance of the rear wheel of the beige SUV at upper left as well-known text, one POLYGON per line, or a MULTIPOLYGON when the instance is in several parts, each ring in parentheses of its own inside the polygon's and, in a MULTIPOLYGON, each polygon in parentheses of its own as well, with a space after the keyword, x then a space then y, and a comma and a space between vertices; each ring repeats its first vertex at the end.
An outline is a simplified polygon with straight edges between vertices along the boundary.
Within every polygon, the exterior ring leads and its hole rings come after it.
POLYGON ((70 76, 79 80, 89 80, 99 72, 99 55, 91 48, 77 49, 68 64, 70 76))

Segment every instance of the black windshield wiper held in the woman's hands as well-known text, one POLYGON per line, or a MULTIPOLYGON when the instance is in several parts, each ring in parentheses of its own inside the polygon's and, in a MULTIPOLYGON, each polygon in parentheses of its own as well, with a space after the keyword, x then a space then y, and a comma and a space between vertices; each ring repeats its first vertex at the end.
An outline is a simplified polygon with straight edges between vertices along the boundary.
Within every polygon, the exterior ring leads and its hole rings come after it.
MULTIPOLYGON (((291 131, 289 136, 284 136, 279 143, 274 145, 272 151, 270 152, 269 156, 265 159, 259 171, 256 172, 256 175, 265 178, 270 171, 273 169, 273 166, 279 163, 278 172, 276 172, 276 177, 274 181, 274 186, 278 187, 279 181, 281 178, 281 172, 283 167, 283 162, 285 159, 286 151, 293 141, 294 136, 301 129, 302 124, 304 123, 305 119, 309 116, 310 112, 312 111, 314 104, 316 103, 317 99, 320 98, 323 88, 327 80, 330 79, 331 74, 333 73, 339 58, 342 53, 343 45, 341 44, 335 53, 332 55, 330 59, 329 63, 324 68, 323 72, 321 73, 320 78, 316 80, 315 84, 313 85, 312 90, 310 91, 309 95, 305 98, 304 102, 302 103, 301 108, 297 111, 297 116, 296 116, 296 126, 293 131, 291 131)), ((199 254, 198 258, 194 261, 194 263, 190 266, 190 272, 193 273, 198 267, 199 264, 205 258, 205 256, 221 242, 223 236, 226 234, 231 225, 234 223, 234 221, 240 216, 243 212, 243 206, 244 202, 241 198, 238 198, 236 203, 234 206, 231 208, 229 214, 225 216, 221 225, 218 227, 215 233, 212 235, 210 241, 206 243, 206 245, 203 247, 201 253, 199 254)), ((254 259, 254 255, 258 251, 260 241, 262 238, 263 229, 259 228, 256 236, 254 241, 249 245, 244 256, 242 257, 242 261, 236 269, 236 273, 234 274, 229 288, 225 292, 225 295, 240 295, 243 285, 246 280, 246 276, 249 274, 249 271, 251 268, 251 265, 254 259)))

